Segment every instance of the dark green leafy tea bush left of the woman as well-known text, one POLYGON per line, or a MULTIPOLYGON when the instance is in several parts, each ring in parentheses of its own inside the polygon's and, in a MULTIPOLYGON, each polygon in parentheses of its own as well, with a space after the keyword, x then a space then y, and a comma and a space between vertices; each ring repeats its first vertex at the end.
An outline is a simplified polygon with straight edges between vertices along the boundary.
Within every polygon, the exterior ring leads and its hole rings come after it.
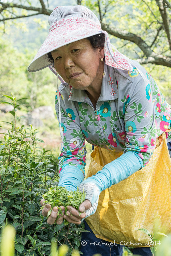
POLYGON ((18 125, 16 111, 23 99, 5 96, 13 105, 10 129, 0 140, 0 227, 11 224, 16 230, 15 254, 49 255, 51 241, 69 245, 68 255, 80 246, 84 224, 49 225, 41 215, 40 200, 51 187, 58 185, 58 161, 39 146, 37 129, 18 125))

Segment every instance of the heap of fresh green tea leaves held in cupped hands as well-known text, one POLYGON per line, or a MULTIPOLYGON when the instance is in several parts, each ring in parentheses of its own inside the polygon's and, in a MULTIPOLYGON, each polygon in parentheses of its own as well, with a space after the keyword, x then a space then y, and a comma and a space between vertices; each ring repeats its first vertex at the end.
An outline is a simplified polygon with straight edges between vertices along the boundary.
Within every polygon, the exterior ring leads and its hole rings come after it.
MULTIPOLYGON (((51 210, 48 211, 47 217, 51 214, 52 209, 54 206, 58 207, 58 213, 57 213, 57 219, 62 216, 62 210, 59 206, 64 206, 65 207, 65 214, 67 212, 67 206, 71 205, 75 209, 79 211, 79 206, 80 204, 85 201, 86 198, 86 193, 85 192, 80 192, 79 188, 77 187, 76 191, 68 191, 65 187, 51 187, 43 195, 43 199, 45 199, 44 203, 48 203, 51 205, 51 210), (60 214, 60 216, 59 216, 60 214)), ((43 209, 44 206, 42 206, 41 209, 43 209)), ((81 214, 81 212, 79 211, 81 214)), ((68 224, 68 221, 66 219, 64 220, 65 225, 68 224)))

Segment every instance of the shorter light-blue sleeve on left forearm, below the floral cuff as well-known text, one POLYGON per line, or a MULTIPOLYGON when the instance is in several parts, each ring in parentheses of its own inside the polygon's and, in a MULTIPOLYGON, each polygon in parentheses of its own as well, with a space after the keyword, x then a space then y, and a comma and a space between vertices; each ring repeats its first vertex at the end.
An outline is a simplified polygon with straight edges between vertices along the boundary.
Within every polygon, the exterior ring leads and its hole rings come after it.
POLYGON ((76 191, 80 183, 84 179, 84 175, 79 168, 65 166, 59 173, 59 184, 58 186, 66 187, 68 190, 76 191))

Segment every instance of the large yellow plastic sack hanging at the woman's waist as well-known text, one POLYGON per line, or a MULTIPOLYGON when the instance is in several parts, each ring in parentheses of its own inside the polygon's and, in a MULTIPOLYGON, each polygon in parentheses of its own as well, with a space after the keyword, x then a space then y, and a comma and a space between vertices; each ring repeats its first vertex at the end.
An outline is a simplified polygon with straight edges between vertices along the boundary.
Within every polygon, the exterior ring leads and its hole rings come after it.
MULTIPOLYGON (((122 153, 96 147, 91 153, 87 177, 122 153)), ((95 214, 86 222, 97 238, 131 247, 151 246, 149 237, 140 228, 154 231, 154 221, 160 219, 171 232, 171 159, 166 134, 155 148, 149 163, 126 180, 101 192, 95 214)))

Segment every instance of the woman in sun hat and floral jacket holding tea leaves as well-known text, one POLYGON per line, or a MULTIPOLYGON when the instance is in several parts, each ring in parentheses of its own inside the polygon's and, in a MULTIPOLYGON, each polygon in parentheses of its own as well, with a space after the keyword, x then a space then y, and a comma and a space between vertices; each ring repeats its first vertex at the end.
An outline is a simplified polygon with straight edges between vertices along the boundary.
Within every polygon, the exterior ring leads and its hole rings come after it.
MULTIPOLYGON (((49 34, 28 70, 49 66, 61 81, 55 101, 62 139, 59 186, 79 187, 86 200, 81 215, 70 206, 65 215, 61 205, 63 215, 56 221, 54 207, 47 222, 61 224, 65 218, 80 224, 86 218, 90 233, 82 234, 84 255, 122 255, 123 245, 152 255, 138 229, 153 228, 155 213, 167 211, 165 219, 171 215, 161 193, 161 200, 151 193, 154 184, 163 186, 160 176, 153 182, 156 173, 163 176, 171 168, 166 144, 166 136, 171 140, 170 107, 137 61, 112 50, 108 33, 90 10, 58 6, 48 21, 49 34), (85 139, 95 149, 84 180, 85 139)), ((44 206, 44 216, 50 207, 44 206)))

